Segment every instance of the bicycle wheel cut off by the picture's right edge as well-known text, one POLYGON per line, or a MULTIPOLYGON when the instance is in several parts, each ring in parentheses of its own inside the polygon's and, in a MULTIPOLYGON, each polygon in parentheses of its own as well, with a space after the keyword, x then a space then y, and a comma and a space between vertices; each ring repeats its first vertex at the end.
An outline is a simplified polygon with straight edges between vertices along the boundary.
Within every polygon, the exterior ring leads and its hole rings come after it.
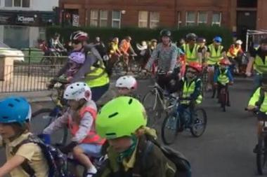
POLYGON ((258 140, 258 152, 256 153, 256 167, 259 175, 266 174, 267 139, 261 136, 258 140))

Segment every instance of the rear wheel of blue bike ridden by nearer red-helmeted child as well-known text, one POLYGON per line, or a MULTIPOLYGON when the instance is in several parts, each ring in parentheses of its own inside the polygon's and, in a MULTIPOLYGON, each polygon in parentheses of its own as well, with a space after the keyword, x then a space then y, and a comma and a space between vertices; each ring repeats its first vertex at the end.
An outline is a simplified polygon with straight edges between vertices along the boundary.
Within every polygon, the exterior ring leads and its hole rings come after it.
POLYGON ((204 134, 207 127, 207 113, 203 108, 196 108, 192 114, 192 125, 190 132, 195 137, 200 137, 204 134))

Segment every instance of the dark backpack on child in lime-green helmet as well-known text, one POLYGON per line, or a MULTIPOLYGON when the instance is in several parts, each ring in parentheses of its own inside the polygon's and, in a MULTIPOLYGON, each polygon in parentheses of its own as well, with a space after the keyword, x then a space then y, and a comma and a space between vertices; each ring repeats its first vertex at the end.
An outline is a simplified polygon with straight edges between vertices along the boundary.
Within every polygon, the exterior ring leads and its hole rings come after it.
POLYGON ((153 146, 157 146, 162 153, 173 162, 176 166, 176 174, 175 177, 191 177, 191 165, 190 162, 178 151, 170 148, 169 146, 160 145, 155 139, 150 136, 148 137, 147 146, 142 156, 141 163, 145 165, 145 159, 152 150, 153 146))

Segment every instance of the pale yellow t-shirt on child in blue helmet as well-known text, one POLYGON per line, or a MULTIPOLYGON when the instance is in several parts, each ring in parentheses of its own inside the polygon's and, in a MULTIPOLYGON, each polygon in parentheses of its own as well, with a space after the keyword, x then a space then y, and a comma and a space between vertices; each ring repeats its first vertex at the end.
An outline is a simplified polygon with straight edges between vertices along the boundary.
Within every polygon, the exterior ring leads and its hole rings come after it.
MULTIPOLYGON (((31 133, 22 134, 14 141, 9 140, 1 140, 0 139, 0 146, 3 146, 5 143, 6 147, 6 159, 10 160, 14 155, 12 155, 13 148, 17 146, 19 143, 27 139, 27 137, 31 133)), ((15 155, 20 155, 25 157, 30 164, 30 167, 34 169, 35 176, 38 177, 47 177, 48 176, 48 164, 46 162, 46 158, 44 157, 43 153, 41 152, 41 148, 34 144, 34 143, 25 143, 18 149, 15 155)), ((22 169, 22 167, 17 167, 13 169, 10 173, 11 177, 29 177, 29 175, 22 169)))

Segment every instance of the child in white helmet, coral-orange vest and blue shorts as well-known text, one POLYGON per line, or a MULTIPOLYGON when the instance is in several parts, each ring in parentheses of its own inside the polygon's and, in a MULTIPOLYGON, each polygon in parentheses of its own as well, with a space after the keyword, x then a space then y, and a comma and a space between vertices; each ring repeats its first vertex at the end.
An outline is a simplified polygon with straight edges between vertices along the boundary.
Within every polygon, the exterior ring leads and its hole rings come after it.
POLYGON ((87 177, 96 174, 89 157, 100 157, 105 139, 101 139, 95 130, 97 108, 91 100, 91 90, 86 83, 72 83, 64 92, 70 108, 44 129, 43 137, 68 125, 72 142, 61 148, 63 153, 72 153, 74 158, 87 168, 87 177))

